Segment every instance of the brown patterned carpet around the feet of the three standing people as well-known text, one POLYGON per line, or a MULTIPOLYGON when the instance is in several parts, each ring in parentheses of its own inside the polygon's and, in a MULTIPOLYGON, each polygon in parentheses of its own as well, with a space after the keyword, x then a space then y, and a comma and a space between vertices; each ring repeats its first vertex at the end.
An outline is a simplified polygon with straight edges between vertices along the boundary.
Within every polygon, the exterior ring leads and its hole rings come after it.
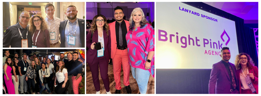
MULTIPOLYGON (((110 81, 110 91, 112 94, 114 94, 116 88, 115 88, 115 80, 114 80, 114 76, 113 76, 113 65, 109 65, 108 75, 109 75, 109 81, 110 81)), ((100 80, 101 94, 106 94, 106 90, 104 88, 100 73, 99 73, 99 80, 100 80)), ((121 69, 121 94, 127 94, 125 85, 122 83, 122 81, 123 81, 123 70, 121 69)), ((139 91, 136 80, 132 76, 131 69, 130 69, 129 82, 130 82, 132 94, 138 94, 140 91, 139 91)), ((154 78, 150 75, 150 78, 148 81, 148 89, 147 89, 146 94, 155 94, 154 82, 155 82, 154 78)), ((95 91, 95 88, 93 85, 90 68, 89 68, 89 65, 87 64, 86 65, 86 94, 95 94, 95 93, 96 93, 96 91, 95 91)))

